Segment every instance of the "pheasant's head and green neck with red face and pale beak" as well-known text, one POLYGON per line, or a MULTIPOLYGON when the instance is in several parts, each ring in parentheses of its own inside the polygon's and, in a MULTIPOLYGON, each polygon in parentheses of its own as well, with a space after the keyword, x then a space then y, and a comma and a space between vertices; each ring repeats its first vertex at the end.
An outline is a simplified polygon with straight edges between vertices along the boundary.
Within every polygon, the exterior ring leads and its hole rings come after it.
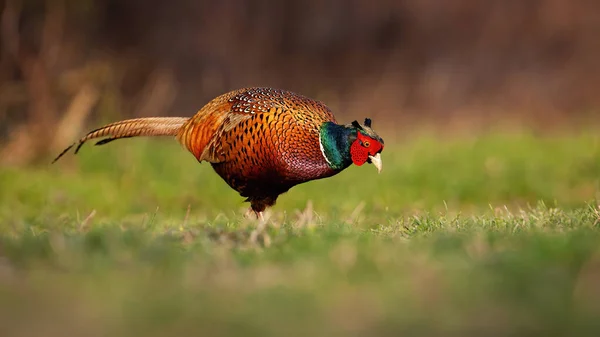
POLYGON ((381 172, 383 139, 371 128, 369 118, 362 125, 358 121, 348 125, 326 122, 321 126, 320 142, 323 156, 334 170, 369 163, 381 172))

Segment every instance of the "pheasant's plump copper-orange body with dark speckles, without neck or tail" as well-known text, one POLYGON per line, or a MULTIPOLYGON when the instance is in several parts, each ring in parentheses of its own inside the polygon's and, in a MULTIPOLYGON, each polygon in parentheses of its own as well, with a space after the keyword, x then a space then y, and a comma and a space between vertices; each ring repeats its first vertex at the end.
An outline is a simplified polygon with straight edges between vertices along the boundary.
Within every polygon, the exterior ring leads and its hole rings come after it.
POLYGON ((327 121, 335 117, 318 101, 249 88, 213 99, 177 137, 260 212, 292 186, 337 173, 319 145, 319 128, 327 121))

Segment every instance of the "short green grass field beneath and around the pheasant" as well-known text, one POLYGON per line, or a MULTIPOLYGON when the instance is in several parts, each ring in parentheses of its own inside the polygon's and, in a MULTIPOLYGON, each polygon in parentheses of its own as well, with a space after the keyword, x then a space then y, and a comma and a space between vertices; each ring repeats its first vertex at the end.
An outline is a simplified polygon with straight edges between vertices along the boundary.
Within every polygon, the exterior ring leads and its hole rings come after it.
POLYGON ((166 140, 0 168, 0 335, 598 335, 600 137, 386 146, 264 232, 166 140))

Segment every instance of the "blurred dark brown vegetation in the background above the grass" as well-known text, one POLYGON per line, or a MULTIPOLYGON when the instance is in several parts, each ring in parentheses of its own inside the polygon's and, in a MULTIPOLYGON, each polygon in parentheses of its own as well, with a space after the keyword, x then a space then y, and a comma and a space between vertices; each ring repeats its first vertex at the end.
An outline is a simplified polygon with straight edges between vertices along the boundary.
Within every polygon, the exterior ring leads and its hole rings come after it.
MULTIPOLYGON (((593 0, 0 1, 0 162, 266 85, 340 120, 548 127, 600 105, 593 0)), ((382 123, 383 124, 383 123, 382 123)), ((381 124, 380 124, 381 125, 381 124)))

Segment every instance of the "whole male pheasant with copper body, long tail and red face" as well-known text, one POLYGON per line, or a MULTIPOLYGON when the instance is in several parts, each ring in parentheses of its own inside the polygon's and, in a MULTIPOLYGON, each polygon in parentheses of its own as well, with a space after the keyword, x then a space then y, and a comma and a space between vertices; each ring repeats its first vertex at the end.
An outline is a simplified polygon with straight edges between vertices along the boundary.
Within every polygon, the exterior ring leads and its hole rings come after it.
POLYGON ((174 136, 198 162, 250 202, 260 219, 282 193, 295 185, 331 177, 351 164, 372 163, 381 172, 383 139, 353 121, 337 124, 323 103, 273 88, 245 88, 222 94, 193 117, 146 117, 111 123, 89 132, 73 146, 138 136, 174 136))

